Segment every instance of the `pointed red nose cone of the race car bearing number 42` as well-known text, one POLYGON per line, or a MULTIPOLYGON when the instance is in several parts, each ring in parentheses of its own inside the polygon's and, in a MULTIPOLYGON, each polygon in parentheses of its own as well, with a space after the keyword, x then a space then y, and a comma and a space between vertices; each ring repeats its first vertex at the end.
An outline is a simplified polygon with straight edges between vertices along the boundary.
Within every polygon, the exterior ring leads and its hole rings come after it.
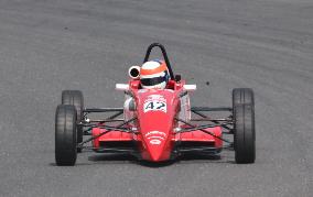
POLYGON ((161 162, 170 160, 172 127, 177 111, 175 92, 169 90, 144 90, 138 94, 138 120, 142 139, 143 160, 161 162))

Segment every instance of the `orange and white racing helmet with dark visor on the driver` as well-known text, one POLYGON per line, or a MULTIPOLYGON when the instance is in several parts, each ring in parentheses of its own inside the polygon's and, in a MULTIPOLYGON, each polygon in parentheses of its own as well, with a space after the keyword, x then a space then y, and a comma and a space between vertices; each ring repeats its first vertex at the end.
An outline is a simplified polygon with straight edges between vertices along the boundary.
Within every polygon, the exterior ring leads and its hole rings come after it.
POLYGON ((144 89, 164 89, 170 75, 164 61, 145 62, 140 69, 140 81, 144 89))

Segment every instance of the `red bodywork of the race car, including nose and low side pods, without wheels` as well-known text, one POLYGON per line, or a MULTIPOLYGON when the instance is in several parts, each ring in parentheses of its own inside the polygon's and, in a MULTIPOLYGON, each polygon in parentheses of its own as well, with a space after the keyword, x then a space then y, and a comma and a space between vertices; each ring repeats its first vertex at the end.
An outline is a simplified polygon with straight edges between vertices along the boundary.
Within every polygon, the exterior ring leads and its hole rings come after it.
MULTIPOLYGON (((203 131, 196 130, 192 132, 179 133, 180 124, 175 118, 184 113, 190 114, 188 99, 186 103, 182 103, 181 94, 184 81, 175 83, 170 80, 166 89, 141 89, 139 80, 130 80, 129 91, 133 95, 136 110, 131 113, 138 118, 138 121, 129 124, 138 131, 138 134, 126 133, 120 131, 111 131, 93 141, 96 149, 106 147, 106 143, 126 143, 136 142, 137 149, 140 152, 142 160, 161 162, 171 160, 175 144, 184 142, 201 143, 211 147, 222 149, 222 141, 207 134, 203 131), (165 107, 164 107, 165 105, 165 107), (182 106, 185 106, 184 109, 182 106), (186 109, 185 109, 186 108, 186 109)), ((185 117, 187 119, 187 117, 185 117)), ((206 131, 216 136, 222 138, 222 128, 208 128, 206 131)), ((106 132, 105 129, 94 128, 93 136, 106 132)))

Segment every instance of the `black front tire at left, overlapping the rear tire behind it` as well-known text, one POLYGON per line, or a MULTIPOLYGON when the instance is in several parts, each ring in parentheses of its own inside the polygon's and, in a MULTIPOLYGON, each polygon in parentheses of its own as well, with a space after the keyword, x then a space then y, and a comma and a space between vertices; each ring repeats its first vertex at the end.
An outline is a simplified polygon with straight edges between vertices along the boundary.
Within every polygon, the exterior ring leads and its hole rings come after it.
POLYGON ((76 109, 74 106, 60 105, 55 113, 56 165, 75 165, 76 141, 76 109))

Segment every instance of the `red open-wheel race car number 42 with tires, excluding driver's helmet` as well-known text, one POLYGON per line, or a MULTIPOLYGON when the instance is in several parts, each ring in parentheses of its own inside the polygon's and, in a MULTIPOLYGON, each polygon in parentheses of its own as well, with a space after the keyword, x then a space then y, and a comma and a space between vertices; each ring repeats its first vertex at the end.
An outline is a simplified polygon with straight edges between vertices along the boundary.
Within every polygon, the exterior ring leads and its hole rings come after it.
POLYGON ((235 151, 236 163, 255 162, 253 91, 234 89, 233 107, 191 107, 190 91, 196 86, 173 74, 163 45, 151 44, 143 63, 154 47, 161 50, 170 74, 164 89, 142 88, 140 67, 132 66, 129 83, 116 85, 126 96, 122 108, 85 108, 82 91, 62 92, 55 114, 56 165, 75 165, 84 150, 163 162, 184 154, 220 155, 227 149, 235 151))

